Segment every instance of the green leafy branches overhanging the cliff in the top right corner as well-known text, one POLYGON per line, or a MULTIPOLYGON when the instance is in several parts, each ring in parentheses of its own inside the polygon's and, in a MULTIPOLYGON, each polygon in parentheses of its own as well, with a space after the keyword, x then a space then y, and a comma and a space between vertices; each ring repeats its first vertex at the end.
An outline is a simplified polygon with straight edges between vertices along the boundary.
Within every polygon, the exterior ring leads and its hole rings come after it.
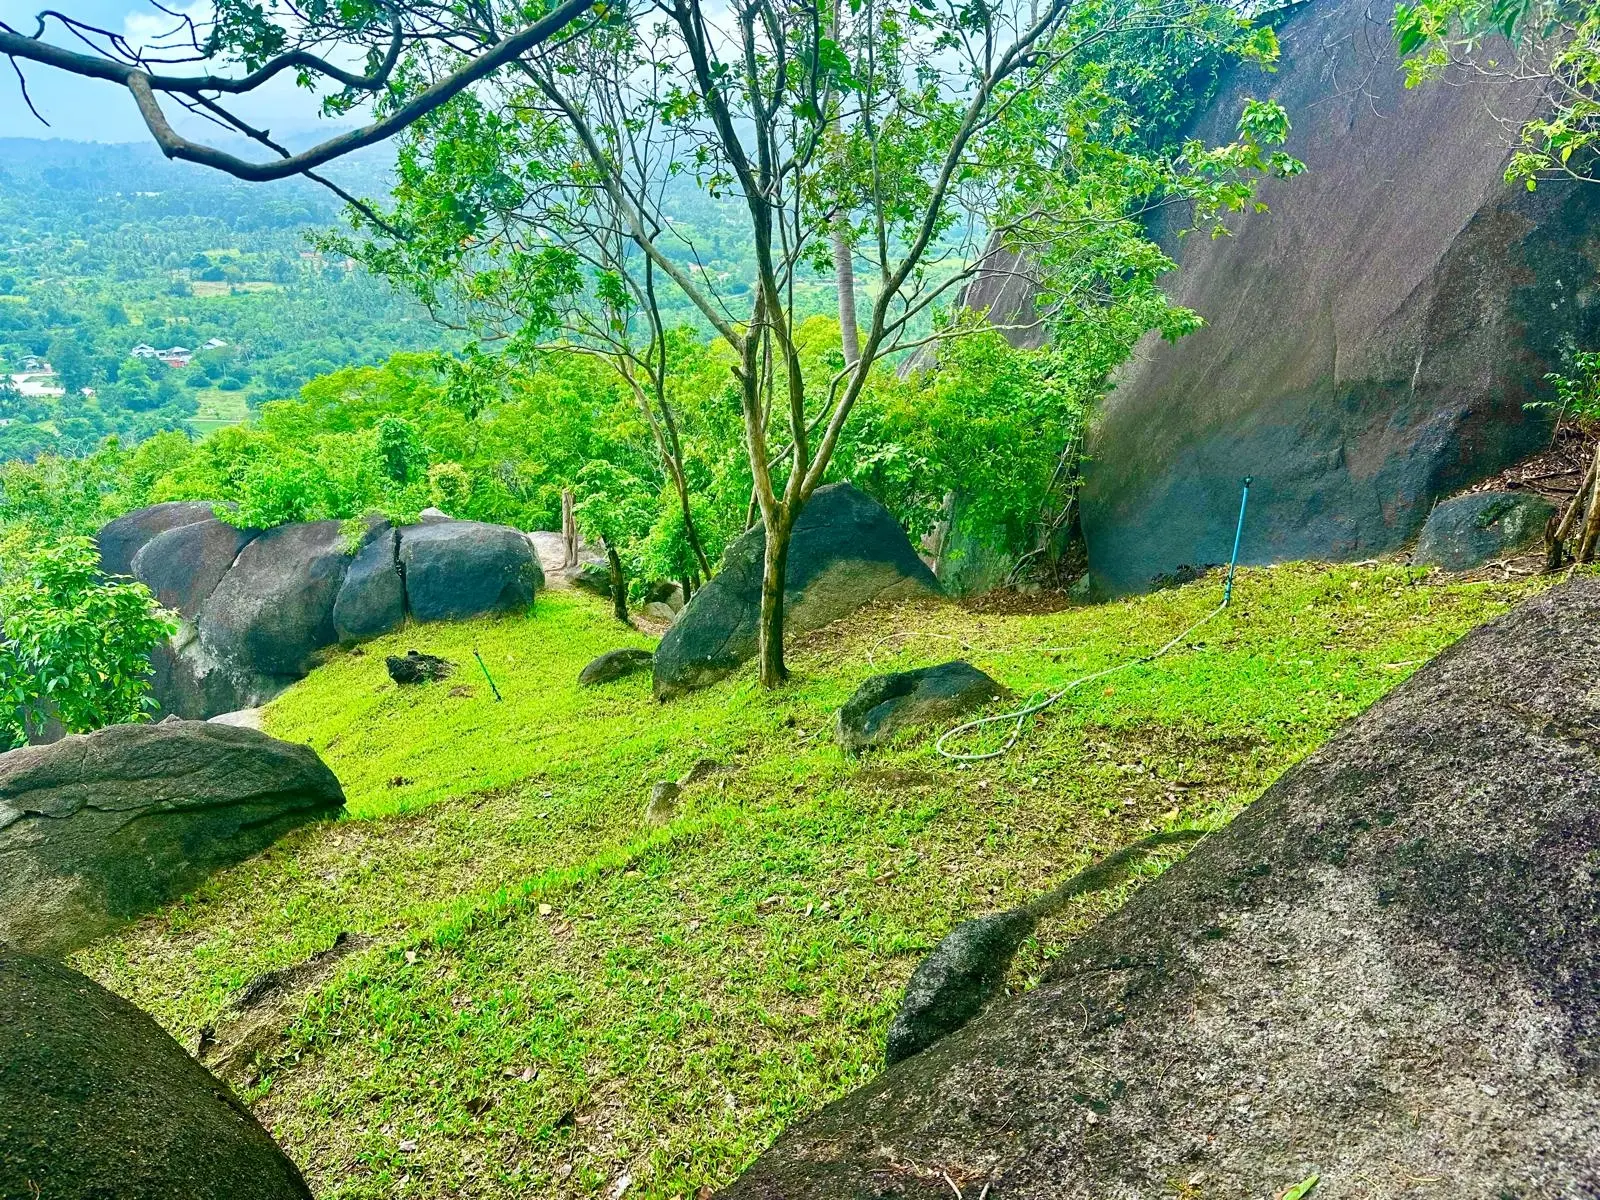
POLYGON ((1546 109, 1514 138, 1506 179, 1600 179, 1600 5, 1594 0, 1418 0, 1398 3, 1395 40, 1406 86, 1466 69, 1538 88, 1546 109), (1504 40, 1501 45, 1496 42, 1504 40))

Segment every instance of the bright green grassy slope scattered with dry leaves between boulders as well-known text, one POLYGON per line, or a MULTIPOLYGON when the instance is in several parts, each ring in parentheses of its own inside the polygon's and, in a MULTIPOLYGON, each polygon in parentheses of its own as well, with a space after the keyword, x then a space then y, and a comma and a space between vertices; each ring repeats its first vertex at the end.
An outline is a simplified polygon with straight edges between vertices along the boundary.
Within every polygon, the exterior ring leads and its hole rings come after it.
MULTIPOLYGON (((574 686, 594 654, 645 643, 576 594, 413 629, 334 654, 269 712, 338 771, 350 819, 78 965, 192 1042, 258 973, 371 934, 245 1085, 320 1195, 616 1195, 626 1178, 629 1197, 690 1197, 880 1069, 898 989, 950 925, 1154 827, 1226 821, 1526 587, 1248 571, 1194 645, 970 768, 926 738, 846 763, 830 714, 874 670, 957 656, 1021 694, 1058 686, 1160 645, 1216 582, 1050 616, 878 608, 798 646, 776 696, 741 675, 670 706, 646 677, 574 686), (408 646, 456 678, 394 688, 382 656, 408 646), (699 758, 720 770, 645 830, 650 786, 699 758)), ((1050 922, 1016 984, 1117 899, 1050 922)))

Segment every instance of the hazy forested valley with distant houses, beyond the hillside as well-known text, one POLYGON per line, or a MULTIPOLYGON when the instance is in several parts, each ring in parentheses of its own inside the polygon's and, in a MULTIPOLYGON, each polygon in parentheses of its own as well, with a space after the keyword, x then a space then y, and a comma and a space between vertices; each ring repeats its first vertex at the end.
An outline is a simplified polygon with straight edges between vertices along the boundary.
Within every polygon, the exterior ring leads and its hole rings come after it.
MULTIPOLYGON (((341 178, 374 190, 387 163, 365 155, 341 178)), ((250 187, 149 146, 0 141, 0 461, 203 434, 341 366, 451 344, 315 248, 341 206, 304 179, 250 187), (136 347, 194 357, 168 366, 136 347), (43 363, 53 378, 11 382, 43 363)))

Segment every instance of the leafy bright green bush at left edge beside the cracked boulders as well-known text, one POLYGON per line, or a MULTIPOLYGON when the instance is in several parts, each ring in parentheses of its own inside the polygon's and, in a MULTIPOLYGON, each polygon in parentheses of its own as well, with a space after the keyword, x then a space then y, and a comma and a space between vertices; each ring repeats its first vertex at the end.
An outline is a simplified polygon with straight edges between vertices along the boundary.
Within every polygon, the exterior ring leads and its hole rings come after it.
POLYGON ((150 651, 176 632, 144 584, 107 582, 88 538, 0 544, 0 744, 144 720, 150 651))

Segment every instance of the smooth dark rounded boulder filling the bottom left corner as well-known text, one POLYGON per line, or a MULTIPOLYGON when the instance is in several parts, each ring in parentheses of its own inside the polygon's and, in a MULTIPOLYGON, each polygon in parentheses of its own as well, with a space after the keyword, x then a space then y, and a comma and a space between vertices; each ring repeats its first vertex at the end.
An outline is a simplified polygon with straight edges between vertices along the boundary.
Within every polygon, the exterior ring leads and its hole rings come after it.
POLYGON ((150 1018, 0 946, 0 1195, 310 1200, 310 1189, 150 1018))

